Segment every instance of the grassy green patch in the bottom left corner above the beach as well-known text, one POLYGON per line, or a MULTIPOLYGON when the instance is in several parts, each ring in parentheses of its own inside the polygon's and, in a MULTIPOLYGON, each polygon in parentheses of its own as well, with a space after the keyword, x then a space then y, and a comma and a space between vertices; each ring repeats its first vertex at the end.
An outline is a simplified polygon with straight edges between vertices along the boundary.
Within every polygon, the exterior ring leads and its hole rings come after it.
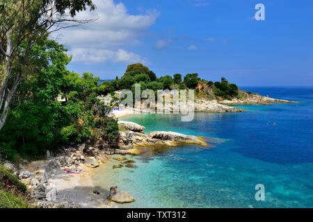
POLYGON ((29 208, 26 186, 0 164, 0 208, 29 208))

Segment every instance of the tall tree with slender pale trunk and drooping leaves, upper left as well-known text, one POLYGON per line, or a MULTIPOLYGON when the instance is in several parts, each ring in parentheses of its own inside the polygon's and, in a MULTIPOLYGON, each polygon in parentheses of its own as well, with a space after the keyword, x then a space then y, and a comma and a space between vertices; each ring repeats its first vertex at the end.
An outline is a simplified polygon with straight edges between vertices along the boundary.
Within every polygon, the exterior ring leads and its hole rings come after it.
POLYGON ((32 46, 49 33, 91 20, 74 19, 94 10, 91 0, 6 0, 0 3, 0 130, 22 78, 32 73, 32 46))

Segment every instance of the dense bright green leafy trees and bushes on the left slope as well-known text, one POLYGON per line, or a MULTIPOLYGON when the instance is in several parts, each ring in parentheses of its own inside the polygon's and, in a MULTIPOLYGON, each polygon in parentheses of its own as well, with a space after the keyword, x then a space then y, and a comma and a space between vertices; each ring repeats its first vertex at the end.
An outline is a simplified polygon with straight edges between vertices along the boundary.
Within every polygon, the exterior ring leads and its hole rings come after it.
MULTIPOLYGON (((111 92, 112 85, 103 83, 104 88, 99 89, 99 78, 93 74, 83 73, 80 77, 68 71, 70 58, 63 46, 46 40, 36 45, 31 55, 38 71, 22 81, 0 134, 0 152, 10 159, 17 153, 40 157, 47 149, 53 151, 63 144, 94 139, 95 118, 103 119, 108 113, 102 112, 101 116, 91 110, 98 92, 111 92), (65 101, 56 99, 61 94, 65 101)), ((113 132, 106 132, 108 138, 116 133, 110 129, 113 132)))

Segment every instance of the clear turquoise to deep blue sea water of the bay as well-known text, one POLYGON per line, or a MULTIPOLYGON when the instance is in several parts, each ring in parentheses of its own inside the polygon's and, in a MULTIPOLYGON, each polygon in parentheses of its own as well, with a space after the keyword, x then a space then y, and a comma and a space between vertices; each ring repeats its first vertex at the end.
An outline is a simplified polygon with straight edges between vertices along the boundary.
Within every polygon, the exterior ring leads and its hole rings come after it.
POLYGON ((242 113, 141 114, 123 120, 152 130, 208 139, 209 148, 183 146, 130 157, 137 169, 98 173, 95 180, 133 194, 123 207, 313 207, 313 88, 246 88, 294 104, 245 105, 242 113), (106 181, 107 183, 108 181, 106 181), (255 185, 265 200, 255 200, 255 185))

